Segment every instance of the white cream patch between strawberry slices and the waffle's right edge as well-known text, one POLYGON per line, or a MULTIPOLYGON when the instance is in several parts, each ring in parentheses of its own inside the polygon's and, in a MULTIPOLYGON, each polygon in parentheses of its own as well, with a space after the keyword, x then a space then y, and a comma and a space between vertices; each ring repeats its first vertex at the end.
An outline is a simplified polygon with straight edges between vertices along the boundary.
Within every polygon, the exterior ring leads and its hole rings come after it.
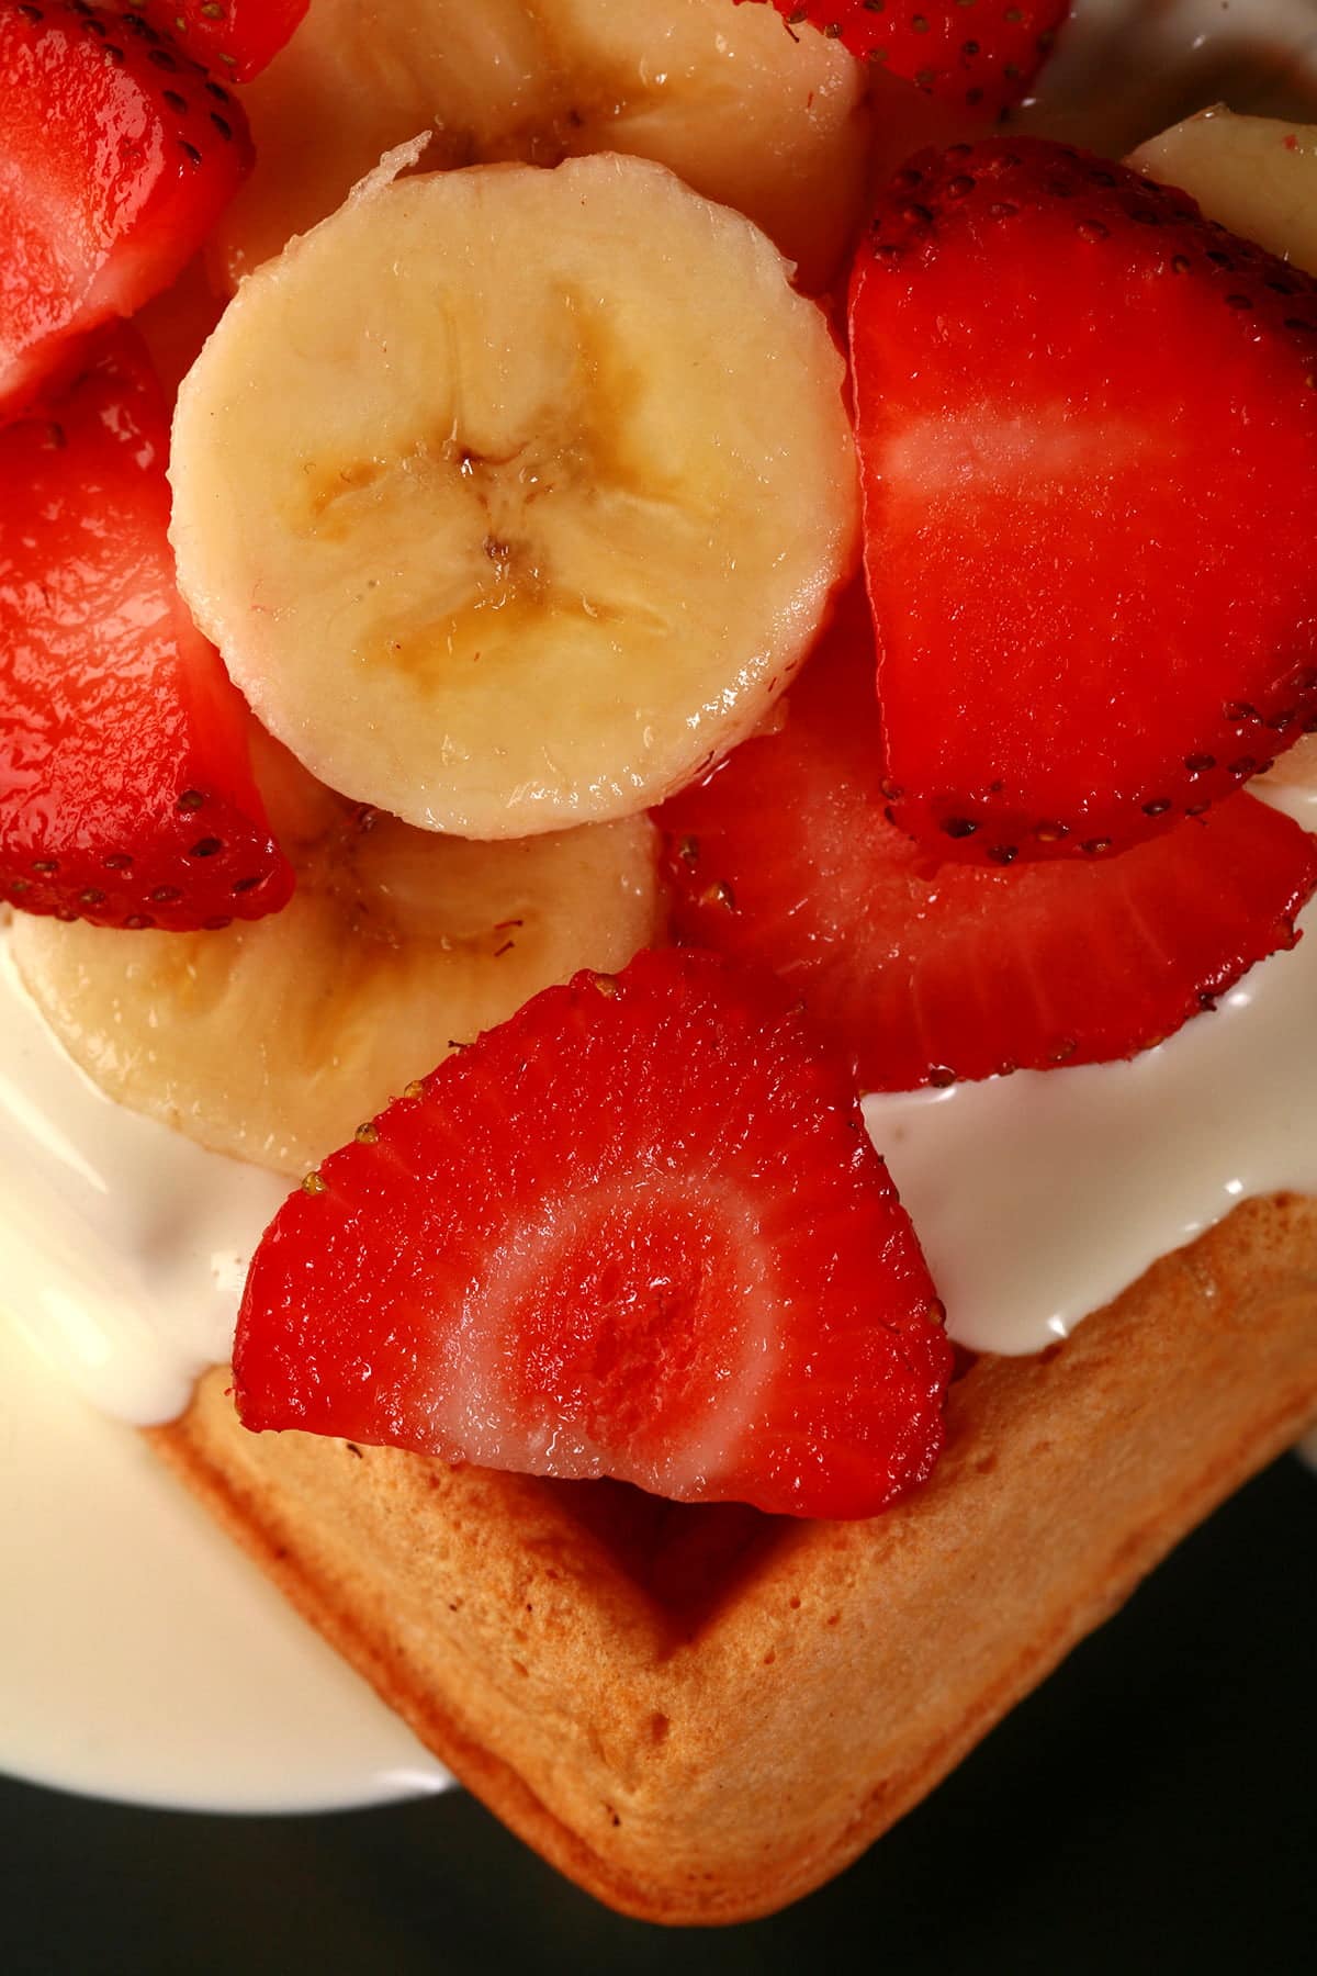
POLYGON ((1317 911, 1133 1063, 873 1097, 950 1330, 1039 1352, 1248 1195, 1317 1194, 1317 911))

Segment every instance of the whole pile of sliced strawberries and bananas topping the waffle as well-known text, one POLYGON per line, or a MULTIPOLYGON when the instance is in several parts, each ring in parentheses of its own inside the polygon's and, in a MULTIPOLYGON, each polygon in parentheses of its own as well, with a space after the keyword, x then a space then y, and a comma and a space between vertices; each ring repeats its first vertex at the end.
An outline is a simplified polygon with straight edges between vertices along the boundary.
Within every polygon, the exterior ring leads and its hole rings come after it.
POLYGON ((1317 281, 1155 182, 1230 119, 995 130, 1062 12, 0 0, 0 895, 306 1176, 249 1427, 873 1516, 950 1346, 859 1093, 1297 939, 1317 281))

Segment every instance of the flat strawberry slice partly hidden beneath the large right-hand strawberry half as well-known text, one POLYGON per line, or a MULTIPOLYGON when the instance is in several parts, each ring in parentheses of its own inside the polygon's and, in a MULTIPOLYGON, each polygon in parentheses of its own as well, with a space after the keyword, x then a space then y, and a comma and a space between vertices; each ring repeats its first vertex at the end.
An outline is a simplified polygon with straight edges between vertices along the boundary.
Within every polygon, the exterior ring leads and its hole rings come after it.
POLYGON ((887 820, 851 599, 742 743, 658 812, 683 941, 776 968, 861 1089, 1129 1057, 1295 941, 1317 844, 1248 794, 1123 858, 932 867, 887 820))

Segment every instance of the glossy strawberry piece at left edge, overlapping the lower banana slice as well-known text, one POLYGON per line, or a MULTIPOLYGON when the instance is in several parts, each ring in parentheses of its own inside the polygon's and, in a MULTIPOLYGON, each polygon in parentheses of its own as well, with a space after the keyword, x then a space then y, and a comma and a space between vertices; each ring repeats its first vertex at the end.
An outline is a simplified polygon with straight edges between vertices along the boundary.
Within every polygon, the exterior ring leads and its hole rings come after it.
POLYGON ((0 433, 0 897, 103 927, 284 905, 249 715, 174 587, 168 419, 134 330, 0 433))

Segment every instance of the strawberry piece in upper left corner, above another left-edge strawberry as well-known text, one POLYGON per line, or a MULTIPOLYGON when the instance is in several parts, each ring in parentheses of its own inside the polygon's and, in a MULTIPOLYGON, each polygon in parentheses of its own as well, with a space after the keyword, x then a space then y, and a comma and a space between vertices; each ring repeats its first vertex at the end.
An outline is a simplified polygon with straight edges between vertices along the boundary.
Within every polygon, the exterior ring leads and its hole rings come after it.
POLYGON ((0 0, 0 409, 195 253, 251 166, 227 89, 138 14, 0 0))

